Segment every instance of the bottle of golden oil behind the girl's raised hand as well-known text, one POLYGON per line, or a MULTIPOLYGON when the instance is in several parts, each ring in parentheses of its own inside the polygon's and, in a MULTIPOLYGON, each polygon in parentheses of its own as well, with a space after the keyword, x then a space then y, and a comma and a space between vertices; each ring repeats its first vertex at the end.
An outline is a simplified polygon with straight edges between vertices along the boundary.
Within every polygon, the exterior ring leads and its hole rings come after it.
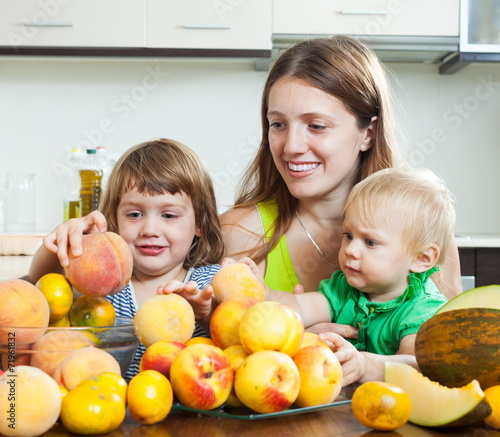
POLYGON ((95 149, 87 149, 83 168, 80 170, 80 199, 82 217, 99 208, 101 200, 102 168, 95 149))

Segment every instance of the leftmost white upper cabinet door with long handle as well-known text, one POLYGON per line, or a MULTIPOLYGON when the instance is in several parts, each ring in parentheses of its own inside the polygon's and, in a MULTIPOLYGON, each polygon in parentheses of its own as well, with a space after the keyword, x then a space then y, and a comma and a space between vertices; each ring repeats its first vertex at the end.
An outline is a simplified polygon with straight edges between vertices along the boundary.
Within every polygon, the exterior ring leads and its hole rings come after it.
POLYGON ((144 47, 145 0, 0 0, 0 46, 144 47))

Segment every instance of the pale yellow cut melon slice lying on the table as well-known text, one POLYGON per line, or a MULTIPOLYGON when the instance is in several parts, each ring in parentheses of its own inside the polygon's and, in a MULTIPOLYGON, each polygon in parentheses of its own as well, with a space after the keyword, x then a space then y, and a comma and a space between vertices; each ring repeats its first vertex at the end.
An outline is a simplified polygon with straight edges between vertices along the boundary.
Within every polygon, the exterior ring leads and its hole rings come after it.
POLYGON ((386 362, 384 379, 401 387, 411 400, 409 421, 431 427, 464 426, 491 414, 484 392, 474 380, 460 388, 448 388, 431 381, 403 363, 386 362))

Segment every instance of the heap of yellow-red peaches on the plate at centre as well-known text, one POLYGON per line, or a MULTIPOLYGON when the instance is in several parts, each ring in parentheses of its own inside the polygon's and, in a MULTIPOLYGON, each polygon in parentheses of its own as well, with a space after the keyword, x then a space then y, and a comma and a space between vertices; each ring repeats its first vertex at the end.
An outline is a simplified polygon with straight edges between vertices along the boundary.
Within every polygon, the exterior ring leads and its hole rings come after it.
POLYGON ((220 303, 210 338, 190 339, 194 314, 179 295, 158 295, 141 306, 134 319, 147 347, 141 372, 162 373, 176 399, 199 410, 226 405, 276 413, 337 398, 342 368, 335 354, 317 334, 304 332, 291 307, 264 301, 265 290, 248 266, 223 267, 212 286, 220 303))

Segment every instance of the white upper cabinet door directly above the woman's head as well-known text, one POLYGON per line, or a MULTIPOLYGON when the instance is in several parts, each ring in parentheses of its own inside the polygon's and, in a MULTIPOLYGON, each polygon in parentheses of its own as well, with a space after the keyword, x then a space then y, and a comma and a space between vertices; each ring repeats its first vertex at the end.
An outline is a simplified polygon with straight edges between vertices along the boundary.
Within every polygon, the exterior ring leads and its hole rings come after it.
POLYGON ((459 0, 273 0, 273 33, 458 36, 459 0))

